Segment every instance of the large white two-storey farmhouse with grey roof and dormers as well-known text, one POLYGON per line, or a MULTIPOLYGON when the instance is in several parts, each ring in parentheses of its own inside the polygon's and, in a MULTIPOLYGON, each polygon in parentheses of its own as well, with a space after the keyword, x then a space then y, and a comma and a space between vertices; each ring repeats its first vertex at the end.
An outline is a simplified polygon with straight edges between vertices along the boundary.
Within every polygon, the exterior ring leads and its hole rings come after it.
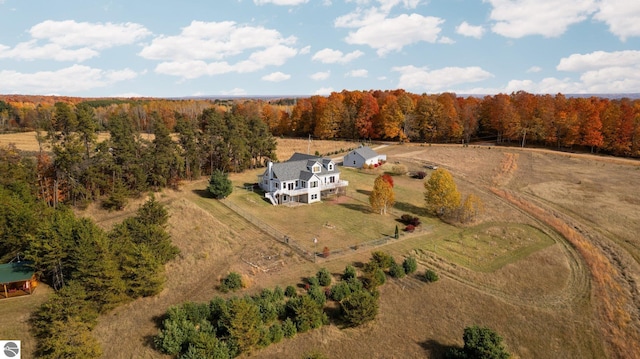
POLYGON ((349 185, 340 179, 333 160, 303 153, 294 153, 285 162, 269 161, 267 169, 258 176, 258 183, 273 205, 318 202, 349 185))

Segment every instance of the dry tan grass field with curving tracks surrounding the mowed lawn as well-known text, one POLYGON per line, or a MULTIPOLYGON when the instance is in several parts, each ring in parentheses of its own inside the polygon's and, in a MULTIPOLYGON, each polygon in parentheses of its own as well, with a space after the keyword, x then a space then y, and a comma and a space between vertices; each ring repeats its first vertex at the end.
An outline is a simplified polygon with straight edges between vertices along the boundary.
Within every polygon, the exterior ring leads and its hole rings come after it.
MULTIPOLYGON (((278 142, 279 159, 307 152, 305 140, 278 142)), ((313 141, 311 152, 350 147, 313 141)), ((242 189, 256 181, 256 173, 234 175, 238 188, 228 200, 281 231, 292 231, 294 238, 319 235, 340 246, 386 234, 399 214, 419 215, 429 230, 376 249, 398 260, 413 255, 419 272, 433 268, 441 277, 432 284, 415 276, 389 280, 381 289, 375 322, 354 329, 326 326, 251 357, 300 358, 318 351, 329 358, 439 358, 448 347, 462 345, 463 329, 473 324, 500 333, 516 358, 632 358, 640 353, 640 163, 488 146, 405 144, 380 152, 409 171, 423 170, 427 163, 448 169, 463 196, 482 198, 485 212, 465 226, 429 218, 420 209, 420 181, 396 176, 393 214, 373 214, 366 196, 377 174, 358 170, 343 171, 350 181, 344 199, 273 207, 242 189), (304 232, 308 227, 315 228, 304 232)), ((363 248, 319 263, 306 261, 220 202, 203 197, 205 187, 203 180, 156 194, 170 210, 169 229, 181 254, 167 265, 168 281, 160 295, 100 319, 94 335, 105 358, 163 358, 151 345, 159 317, 171 305, 220 295, 216 284, 231 270, 243 274, 249 284, 245 292, 254 293, 298 284, 322 266, 339 273, 369 258, 371 248, 363 248)), ((122 213, 90 207, 79 214, 108 228, 141 201, 132 201, 122 213)), ((6 322, 4 304, 0 319, 6 322)), ((12 311, 30 307, 25 303, 12 311)))

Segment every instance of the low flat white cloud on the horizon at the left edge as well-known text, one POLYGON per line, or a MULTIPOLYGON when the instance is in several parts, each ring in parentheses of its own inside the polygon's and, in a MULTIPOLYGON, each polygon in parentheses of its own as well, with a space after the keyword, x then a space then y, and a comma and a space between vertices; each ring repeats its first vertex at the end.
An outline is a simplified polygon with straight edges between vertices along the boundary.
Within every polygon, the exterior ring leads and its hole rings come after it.
POLYGON ((101 70, 83 65, 73 65, 57 71, 41 71, 32 74, 17 71, 0 71, 0 93, 60 94, 77 93, 107 87, 117 82, 131 80, 138 74, 131 69, 101 70))

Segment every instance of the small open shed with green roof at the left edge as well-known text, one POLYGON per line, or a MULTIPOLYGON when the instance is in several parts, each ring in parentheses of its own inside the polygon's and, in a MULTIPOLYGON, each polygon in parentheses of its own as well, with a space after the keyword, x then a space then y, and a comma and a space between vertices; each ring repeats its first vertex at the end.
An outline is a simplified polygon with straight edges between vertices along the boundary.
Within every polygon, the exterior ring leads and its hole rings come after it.
POLYGON ((37 285, 31 262, 0 264, 0 298, 32 294, 37 285))

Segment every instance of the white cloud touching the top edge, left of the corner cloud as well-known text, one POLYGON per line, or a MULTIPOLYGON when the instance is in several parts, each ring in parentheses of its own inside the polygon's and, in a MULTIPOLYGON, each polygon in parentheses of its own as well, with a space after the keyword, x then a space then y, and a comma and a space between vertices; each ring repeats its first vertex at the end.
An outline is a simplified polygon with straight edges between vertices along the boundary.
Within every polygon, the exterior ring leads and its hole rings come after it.
POLYGON ((586 20, 598 7, 595 0, 483 0, 493 6, 493 32, 510 38, 528 35, 557 37, 586 20))

